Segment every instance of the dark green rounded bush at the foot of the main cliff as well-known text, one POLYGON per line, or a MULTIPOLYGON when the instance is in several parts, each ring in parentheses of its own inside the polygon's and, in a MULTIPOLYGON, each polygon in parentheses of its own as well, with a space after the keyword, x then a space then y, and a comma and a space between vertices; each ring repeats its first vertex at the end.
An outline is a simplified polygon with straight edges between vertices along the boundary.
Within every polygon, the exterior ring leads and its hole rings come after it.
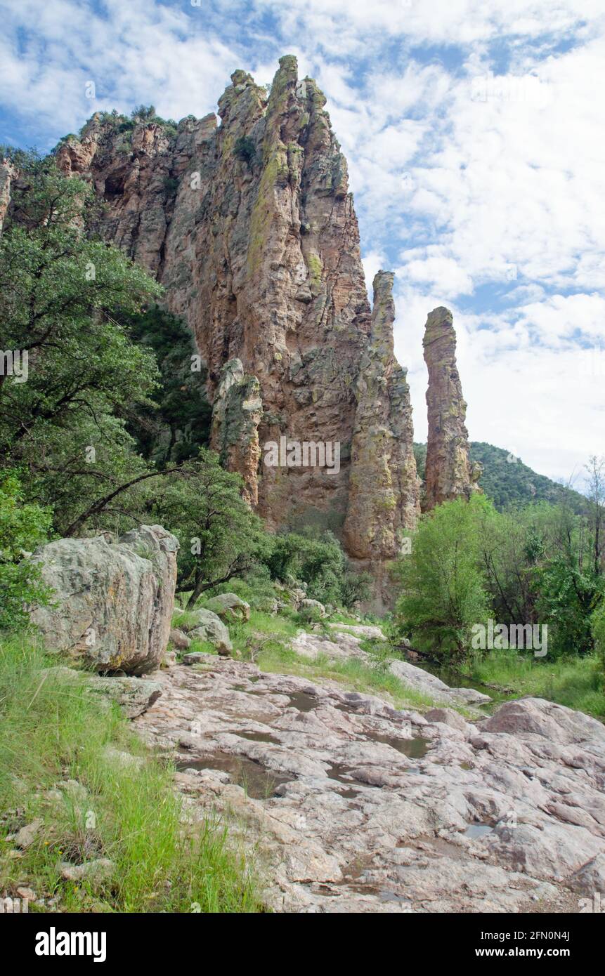
POLYGON ((271 577, 285 581, 288 576, 307 584, 307 595, 322 603, 349 606, 369 595, 367 574, 355 574, 331 532, 306 534, 286 532, 276 535, 265 559, 271 577))

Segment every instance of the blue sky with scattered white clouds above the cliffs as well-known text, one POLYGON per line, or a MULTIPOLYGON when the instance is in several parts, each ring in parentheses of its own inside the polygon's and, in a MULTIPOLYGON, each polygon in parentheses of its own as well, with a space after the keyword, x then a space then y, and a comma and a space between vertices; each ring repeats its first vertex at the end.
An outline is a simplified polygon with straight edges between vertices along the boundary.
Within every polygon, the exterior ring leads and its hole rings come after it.
POLYGON ((0 13, 0 142, 42 151, 97 110, 202 116, 236 68, 264 84, 296 55, 348 159, 368 283, 395 271, 415 439, 424 323, 447 305, 470 439, 583 489, 584 463, 605 454, 603 0, 0 0, 0 13))

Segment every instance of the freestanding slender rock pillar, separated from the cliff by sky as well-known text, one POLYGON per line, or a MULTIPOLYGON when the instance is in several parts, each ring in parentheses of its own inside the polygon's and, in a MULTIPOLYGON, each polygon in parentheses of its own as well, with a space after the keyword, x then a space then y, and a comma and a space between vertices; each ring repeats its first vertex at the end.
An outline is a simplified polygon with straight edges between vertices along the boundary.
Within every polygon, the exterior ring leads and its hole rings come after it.
POLYGON ((468 432, 464 426, 466 403, 455 364, 452 312, 434 308, 426 320, 424 361, 428 369, 426 405, 428 440, 422 508, 428 511, 455 498, 470 498, 479 491, 478 466, 471 465, 468 432))

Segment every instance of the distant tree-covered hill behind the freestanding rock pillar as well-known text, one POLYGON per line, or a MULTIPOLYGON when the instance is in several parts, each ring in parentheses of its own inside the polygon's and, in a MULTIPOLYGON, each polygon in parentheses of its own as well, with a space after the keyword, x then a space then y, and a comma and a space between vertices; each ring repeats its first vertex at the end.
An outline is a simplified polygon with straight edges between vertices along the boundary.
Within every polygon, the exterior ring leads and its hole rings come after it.
MULTIPOLYGON (((414 444, 418 474, 424 477, 426 444, 414 444)), ((478 461, 483 468, 479 484, 497 508, 529 505, 531 502, 566 501, 574 511, 586 511, 587 499, 577 491, 552 481, 513 458, 508 451, 483 441, 470 442, 471 461, 478 461)))

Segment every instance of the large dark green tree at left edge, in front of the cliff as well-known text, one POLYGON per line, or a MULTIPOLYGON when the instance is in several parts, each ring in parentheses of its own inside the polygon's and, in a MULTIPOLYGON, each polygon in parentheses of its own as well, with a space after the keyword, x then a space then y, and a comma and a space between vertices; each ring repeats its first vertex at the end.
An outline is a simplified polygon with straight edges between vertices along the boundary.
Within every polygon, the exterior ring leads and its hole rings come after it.
POLYGON ((118 415, 150 405, 158 376, 151 350, 113 316, 160 288, 83 236, 93 209, 87 183, 30 155, 0 240, 3 342, 28 356, 26 382, 0 376, 0 466, 22 468, 26 497, 52 505, 61 532, 145 468, 118 415))

